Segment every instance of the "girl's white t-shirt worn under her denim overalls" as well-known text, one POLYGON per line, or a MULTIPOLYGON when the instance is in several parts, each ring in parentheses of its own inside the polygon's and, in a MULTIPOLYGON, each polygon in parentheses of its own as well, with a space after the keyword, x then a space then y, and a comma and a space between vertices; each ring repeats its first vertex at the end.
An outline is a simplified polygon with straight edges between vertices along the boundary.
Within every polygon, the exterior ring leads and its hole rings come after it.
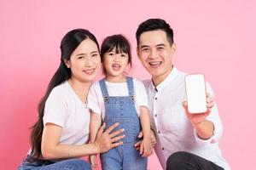
MULTIPOLYGON (((148 94, 142 81, 133 78, 134 89, 134 103, 138 116, 140 116, 139 107, 148 107, 148 94)), ((109 96, 129 96, 127 82, 107 82, 106 86, 109 96)), ((105 105, 102 96, 102 90, 100 82, 94 82, 90 86, 88 94, 88 108, 96 114, 102 115, 102 119, 105 117, 105 105)))

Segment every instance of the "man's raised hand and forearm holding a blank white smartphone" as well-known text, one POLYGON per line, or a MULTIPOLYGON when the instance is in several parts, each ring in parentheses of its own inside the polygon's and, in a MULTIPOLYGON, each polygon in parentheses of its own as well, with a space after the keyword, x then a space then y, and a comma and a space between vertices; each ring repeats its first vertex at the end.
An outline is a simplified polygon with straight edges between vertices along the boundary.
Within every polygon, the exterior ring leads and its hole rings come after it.
POLYGON ((205 77, 203 74, 187 75, 185 77, 187 101, 183 102, 185 113, 195 127, 201 139, 210 139, 214 125, 206 118, 214 106, 214 99, 207 94, 205 77))

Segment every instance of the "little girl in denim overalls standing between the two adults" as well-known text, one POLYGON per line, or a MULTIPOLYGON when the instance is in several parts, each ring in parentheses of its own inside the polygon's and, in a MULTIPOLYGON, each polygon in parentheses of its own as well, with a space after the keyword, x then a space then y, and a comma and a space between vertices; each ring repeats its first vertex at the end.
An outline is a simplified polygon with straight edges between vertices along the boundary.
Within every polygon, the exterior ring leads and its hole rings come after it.
MULTIPOLYGON (((94 142, 102 120, 107 127, 119 122, 119 126, 125 129, 124 144, 101 154, 102 168, 147 169, 146 156, 152 153, 148 96, 143 82, 125 76, 127 65, 131 65, 130 43, 122 35, 107 37, 102 42, 101 57, 106 77, 92 84, 88 95, 91 142, 94 142), (143 141, 140 150, 136 150, 134 144, 141 127, 143 141)), ((90 161, 95 165, 96 156, 90 156, 90 161)))

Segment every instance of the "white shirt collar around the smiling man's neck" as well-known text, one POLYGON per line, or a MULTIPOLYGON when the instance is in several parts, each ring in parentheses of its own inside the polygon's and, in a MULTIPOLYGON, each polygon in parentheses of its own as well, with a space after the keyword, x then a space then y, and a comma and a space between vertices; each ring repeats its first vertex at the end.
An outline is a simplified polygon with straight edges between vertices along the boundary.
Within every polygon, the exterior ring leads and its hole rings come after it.
POLYGON ((169 73, 169 75, 166 77, 166 79, 163 82, 160 82, 160 84, 158 86, 154 86, 154 83, 151 79, 150 82, 150 87, 153 91, 158 92, 161 89, 165 88, 166 85, 170 86, 170 83, 174 80, 174 78, 177 76, 178 71, 177 68, 175 66, 172 67, 172 71, 169 73))

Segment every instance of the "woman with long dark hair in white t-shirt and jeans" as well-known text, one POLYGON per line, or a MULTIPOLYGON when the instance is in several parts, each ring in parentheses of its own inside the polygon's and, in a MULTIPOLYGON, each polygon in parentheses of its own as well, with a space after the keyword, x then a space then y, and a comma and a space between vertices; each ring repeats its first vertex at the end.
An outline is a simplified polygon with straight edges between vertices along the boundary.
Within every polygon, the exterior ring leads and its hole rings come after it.
POLYGON ((61 41, 61 65, 49 82, 46 94, 38 105, 38 122, 32 127, 31 144, 20 170, 91 169, 82 156, 102 153, 122 144, 114 137, 122 130, 105 133, 103 125, 96 140, 89 137, 90 111, 86 106, 91 81, 101 65, 99 46, 90 31, 69 31, 61 41))

